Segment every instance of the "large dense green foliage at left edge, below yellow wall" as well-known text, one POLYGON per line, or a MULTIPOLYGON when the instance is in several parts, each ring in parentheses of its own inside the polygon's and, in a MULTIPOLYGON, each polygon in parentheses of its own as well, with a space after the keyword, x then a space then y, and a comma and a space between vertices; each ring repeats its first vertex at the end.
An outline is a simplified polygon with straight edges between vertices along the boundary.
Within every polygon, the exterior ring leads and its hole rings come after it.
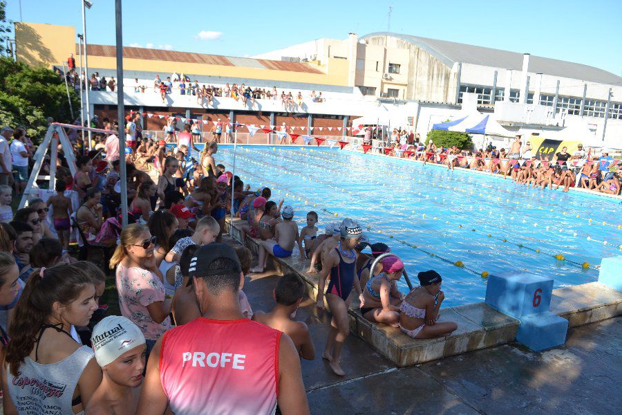
MULTIPOLYGON (((73 89, 69 96, 74 108, 79 98, 73 89)), ((0 125, 26 127, 35 144, 48 129, 47 118, 72 122, 64 80, 47 68, 32 68, 8 57, 0 57, 0 125)))

